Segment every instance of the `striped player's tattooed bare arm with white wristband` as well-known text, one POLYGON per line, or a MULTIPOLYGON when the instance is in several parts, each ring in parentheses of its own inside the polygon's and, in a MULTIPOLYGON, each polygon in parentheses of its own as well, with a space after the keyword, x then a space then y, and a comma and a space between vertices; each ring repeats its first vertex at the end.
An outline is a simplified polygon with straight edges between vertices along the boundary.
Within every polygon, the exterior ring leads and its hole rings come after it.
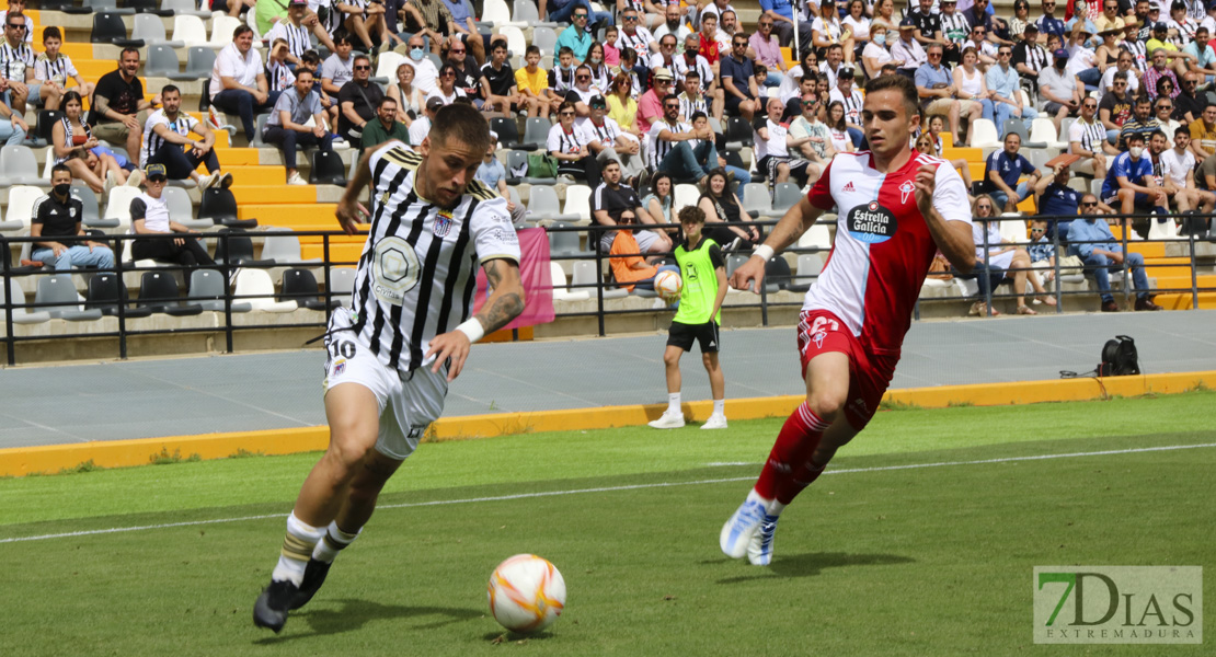
POLYGON ((423 358, 423 363, 430 363, 430 370, 438 373, 439 368, 449 362, 447 380, 454 381, 465 369, 465 359, 468 358, 469 347, 488 333, 494 333, 507 325, 512 319, 519 317, 524 311, 524 285, 519 279, 519 264, 513 260, 489 260, 482 268, 490 281, 490 298, 485 300, 482 311, 472 319, 456 327, 456 330, 435 335, 430 340, 430 349, 423 358))

